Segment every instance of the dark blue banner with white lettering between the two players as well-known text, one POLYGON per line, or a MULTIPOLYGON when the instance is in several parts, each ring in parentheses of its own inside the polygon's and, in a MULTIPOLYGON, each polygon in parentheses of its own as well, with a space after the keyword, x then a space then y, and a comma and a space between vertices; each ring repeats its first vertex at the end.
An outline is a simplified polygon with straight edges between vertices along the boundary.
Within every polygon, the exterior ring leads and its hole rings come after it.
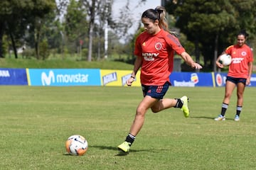
POLYGON ((213 86, 213 73, 173 72, 170 75, 172 86, 213 86))

